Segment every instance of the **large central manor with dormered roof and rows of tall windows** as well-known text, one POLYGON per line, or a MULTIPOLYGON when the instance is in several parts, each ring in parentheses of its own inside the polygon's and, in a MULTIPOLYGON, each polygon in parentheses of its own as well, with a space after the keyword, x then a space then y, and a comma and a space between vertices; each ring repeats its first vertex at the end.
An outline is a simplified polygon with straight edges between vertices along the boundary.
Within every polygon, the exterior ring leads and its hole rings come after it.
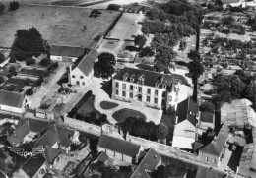
POLYGON ((113 77, 112 99, 173 111, 179 86, 180 81, 171 74, 125 67, 113 77))

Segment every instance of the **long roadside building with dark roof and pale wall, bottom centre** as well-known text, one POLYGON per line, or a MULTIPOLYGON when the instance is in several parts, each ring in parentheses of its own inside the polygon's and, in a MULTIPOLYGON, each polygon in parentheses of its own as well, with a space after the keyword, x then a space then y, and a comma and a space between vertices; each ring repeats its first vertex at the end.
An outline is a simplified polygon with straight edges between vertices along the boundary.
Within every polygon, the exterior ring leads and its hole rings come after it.
POLYGON ((98 152, 105 152, 110 158, 132 164, 138 158, 141 146, 124 139, 101 134, 97 144, 98 152))

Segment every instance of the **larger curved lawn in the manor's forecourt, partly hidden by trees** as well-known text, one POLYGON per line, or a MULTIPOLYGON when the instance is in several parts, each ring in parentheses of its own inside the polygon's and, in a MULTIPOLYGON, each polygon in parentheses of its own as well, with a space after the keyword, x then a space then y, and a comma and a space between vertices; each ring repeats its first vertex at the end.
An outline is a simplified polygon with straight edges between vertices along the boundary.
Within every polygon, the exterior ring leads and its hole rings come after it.
POLYGON ((114 112, 112 117, 119 123, 124 122, 128 117, 144 118, 146 120, 146 116, 143 113, 132 109, 120 109, 114 112))

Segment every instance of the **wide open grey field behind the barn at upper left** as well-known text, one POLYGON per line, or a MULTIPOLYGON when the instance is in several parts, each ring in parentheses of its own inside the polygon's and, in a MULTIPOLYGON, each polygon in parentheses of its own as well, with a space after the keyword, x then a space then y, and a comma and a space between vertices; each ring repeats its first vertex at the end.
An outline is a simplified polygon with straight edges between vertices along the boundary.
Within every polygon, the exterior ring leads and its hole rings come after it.
POLYGON ((22 5, 1 16, 0 46, 11 47, 17 30, 35 27, 49 44, 94 47, 94 38, 104 34, 119 12, 102 10, 99 17, 90 18, 91 12, 88 8, 22 5))

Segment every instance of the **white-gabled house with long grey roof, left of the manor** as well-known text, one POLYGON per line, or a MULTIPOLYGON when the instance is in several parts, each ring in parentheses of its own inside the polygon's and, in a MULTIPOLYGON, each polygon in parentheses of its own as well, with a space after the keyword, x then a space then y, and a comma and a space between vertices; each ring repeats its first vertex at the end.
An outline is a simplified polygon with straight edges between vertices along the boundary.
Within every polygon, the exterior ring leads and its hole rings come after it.
POLYGON ((94 77, 94 62, 96 61, 98 52, 92 49, 78 65, 70 66, 69 82, 72 85, 86 87, 94 77))

